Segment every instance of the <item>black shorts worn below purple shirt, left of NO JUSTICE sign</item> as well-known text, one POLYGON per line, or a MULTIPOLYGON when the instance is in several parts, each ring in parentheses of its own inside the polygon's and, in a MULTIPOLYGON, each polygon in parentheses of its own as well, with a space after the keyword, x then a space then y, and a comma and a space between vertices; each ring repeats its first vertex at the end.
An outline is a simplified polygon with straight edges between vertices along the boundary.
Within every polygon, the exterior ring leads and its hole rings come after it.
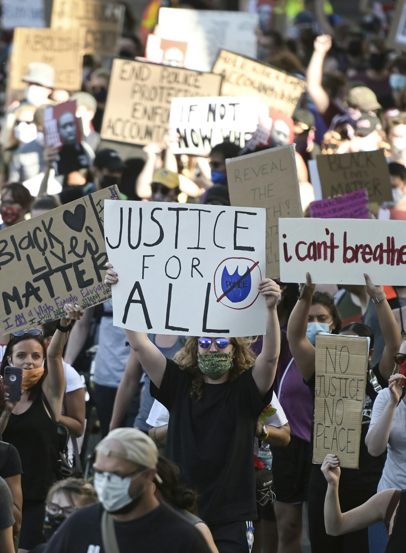
POLYGON ((282 503, 307 501, 311 471, 310 443, 290 436, 286 447, 272 447, 272 453, 276 500, 282 503))

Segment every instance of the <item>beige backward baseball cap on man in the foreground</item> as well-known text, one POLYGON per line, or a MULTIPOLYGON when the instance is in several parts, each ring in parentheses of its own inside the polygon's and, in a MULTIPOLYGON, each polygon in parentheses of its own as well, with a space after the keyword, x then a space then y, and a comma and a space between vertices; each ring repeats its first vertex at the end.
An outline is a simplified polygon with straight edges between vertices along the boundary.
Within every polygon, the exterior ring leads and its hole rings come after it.
MULTIPOLYGON (((116 428, 109 432, 97 444, 95 449, 107 457, 118 457, 143 467, 157 468, 157 446, 147 434, 138 430, 138 428, 116 428), (116 451, 111 445, 106 445, 106 442, 110 440, 117 440, 123 447, 124 452, 116 451)), ((159 483, 162 483, 162 479, 158 474, 155 474, 155 478, 159 483)))

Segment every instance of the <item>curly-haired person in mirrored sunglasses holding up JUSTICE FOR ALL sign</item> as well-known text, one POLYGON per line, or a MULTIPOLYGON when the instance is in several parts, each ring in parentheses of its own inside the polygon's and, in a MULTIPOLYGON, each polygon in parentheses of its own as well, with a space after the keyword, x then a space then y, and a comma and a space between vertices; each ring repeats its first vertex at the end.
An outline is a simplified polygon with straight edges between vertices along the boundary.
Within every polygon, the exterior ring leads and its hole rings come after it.
MULTIPOLYGON (((105 283, 112 286, 117 273, 107 266, 105 283)), ((259 292, 267 332, 256 360, 250 338, 189 337, 171 361, 147 334, 126 330, 152 395, 170 413, 165 455, 197 488, 200 517, 220 553, 246 553, 247 521, 256 519, 252 446, 258 416, 272 398, 280 348, 280 288, 264 279, 259 292)))

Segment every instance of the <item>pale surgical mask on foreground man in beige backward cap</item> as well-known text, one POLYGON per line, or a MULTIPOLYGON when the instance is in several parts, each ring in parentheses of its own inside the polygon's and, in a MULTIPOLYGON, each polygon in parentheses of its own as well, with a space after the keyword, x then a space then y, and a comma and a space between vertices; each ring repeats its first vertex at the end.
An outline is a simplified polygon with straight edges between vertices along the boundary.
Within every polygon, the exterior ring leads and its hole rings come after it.
POLYGON ((112 472, 95 472, 94 485, 98 495, 98 499, 103 507, 109 513, 114 513, 126 505, 129 505, 134 499, 137 499, 143 492, 144 488, 134 497, 129 494, 131 482, 141 476, 147 468, 133 476, 122 478, 112 472))

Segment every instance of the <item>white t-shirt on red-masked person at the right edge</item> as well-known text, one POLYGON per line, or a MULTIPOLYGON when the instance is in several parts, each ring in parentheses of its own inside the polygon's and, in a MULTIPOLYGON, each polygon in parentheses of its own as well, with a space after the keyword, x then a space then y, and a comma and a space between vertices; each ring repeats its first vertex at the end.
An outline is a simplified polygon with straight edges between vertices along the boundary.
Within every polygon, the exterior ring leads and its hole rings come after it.
MULTIPOLYGON (((373 404, 371 424, 369 424, 368 434, 382 415, 389 399, 391 399, 391 390, 384 388, 381 390, 373 404)), ((393 418, 391 431, 389 432, 388 455, 381 480, 378 484, 378 492, 384 489, 405 489, 406 488, 406 404, 400 401, 396 408, 393 418)))

